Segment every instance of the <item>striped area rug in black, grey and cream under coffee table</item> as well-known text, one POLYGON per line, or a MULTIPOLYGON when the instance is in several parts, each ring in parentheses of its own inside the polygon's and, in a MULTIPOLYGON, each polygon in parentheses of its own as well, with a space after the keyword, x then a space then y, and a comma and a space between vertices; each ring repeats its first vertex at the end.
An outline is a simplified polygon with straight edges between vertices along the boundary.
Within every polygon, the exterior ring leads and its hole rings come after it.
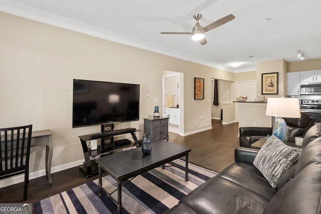
MULTIPOLYGON (((173 161, 185 167, 184 160, 173 161)), ((189 163, 185 171, 174 166, 145 172, 122 187, 122 213, 163 213, 217 173, 189 163)), ((123 182, 125 183, 125 181, 123 182)), ((111 176, 102 179, 107 192, 117 189, 111 176)), ((117 200, 117 191, 112 194, 117 200)), ((98 179, 34 203, 35 213, 117 213, 117 204, 105 193, 98 197, 98 179)))

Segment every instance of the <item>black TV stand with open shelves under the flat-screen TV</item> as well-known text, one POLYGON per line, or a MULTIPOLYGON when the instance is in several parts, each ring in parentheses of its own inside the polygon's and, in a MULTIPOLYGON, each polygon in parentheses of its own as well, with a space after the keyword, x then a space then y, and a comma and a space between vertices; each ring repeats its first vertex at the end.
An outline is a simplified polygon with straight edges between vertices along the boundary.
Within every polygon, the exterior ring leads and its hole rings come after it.
POLYGON ((98 168, 96 167, 96 162, 94 159, 92 159, 92 157, 96 157, 96 156, 101 156, 101 155, 107 155, 107 154, 112 154, 113 152, 117 152, 120 150, 125 150, 126 148, 130 148, 132 146, 138 146, 139 142, 138 139, 136 137, 135 132, 139 131, 135 128, 126 128, 126 129, 119 129, 119 130, 113 130, 113 131, 109 131, 109 132, 105 132, 105 133, 93 133, 93 134, 86 134, 86 135, 82 135, 82 136, 78 136, 80 138, 80 142, 82 145, 82 150, 84 152, 84 157, 85 157, 85 162, 83 166, 80 166, 80 168, 86 172, 86 177, 91 177, 93 176, 94 172, 98 171, 98 168), (126 145, 124 147, 120 147, 120 148, 113 148, 113 150, 107 151, 107 152, 100 152, 100 148, 98 147, 97 150, 90 150, 87 146, 86 141, 89 140, 94 140, 94 139, 99 139, 102 137, 108 137, 108 136, 116 136, 116 135, 120 135, 120 134, 127 134, 130 133, 134 142, 130 145, 126 145))

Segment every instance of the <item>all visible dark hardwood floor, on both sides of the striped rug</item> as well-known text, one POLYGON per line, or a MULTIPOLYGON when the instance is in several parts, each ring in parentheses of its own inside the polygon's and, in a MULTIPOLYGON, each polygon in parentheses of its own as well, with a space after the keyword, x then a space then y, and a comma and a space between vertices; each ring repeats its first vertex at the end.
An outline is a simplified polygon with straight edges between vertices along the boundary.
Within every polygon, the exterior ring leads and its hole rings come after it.
MULTIPOLYGON (((212 120, 212 126, 211 130, 185 137, 170 133, 169 141, 191 148, 190 162, 219 172, 234 162, 234 148, 239 145, 238 123, 222 125, 219 120, 212 120)), ((26 202, 39 201, 97 178, 98 174, 86 178, 82 170, 73 167, 53 173, 52 185, 49 185, 46 176, 32 179, 29 181, 26 202)), ((0 188, 0 203, 23 202, 23 187, 23 183, 18 183, 0 188)))

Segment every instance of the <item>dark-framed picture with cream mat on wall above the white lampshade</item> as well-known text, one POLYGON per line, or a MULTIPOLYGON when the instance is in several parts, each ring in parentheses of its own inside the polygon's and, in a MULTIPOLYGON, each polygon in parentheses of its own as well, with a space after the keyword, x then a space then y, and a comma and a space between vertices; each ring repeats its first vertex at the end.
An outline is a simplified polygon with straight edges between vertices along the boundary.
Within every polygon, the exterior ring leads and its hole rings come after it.
POLYGON ((262 94, 279 94, 279 73, 262 74, 262 94))

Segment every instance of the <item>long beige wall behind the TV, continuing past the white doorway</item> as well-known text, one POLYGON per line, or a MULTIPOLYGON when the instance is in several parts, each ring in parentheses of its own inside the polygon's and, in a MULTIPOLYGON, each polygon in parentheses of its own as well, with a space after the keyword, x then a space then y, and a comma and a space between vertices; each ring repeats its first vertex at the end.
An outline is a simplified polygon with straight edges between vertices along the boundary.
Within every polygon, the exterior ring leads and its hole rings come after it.
MULTIPOLYGON (((184 72, 185 133, 211 127, 210 77, 234 80, 233 73, 220 69, 5 13, 0 13, 0 29, 0 127, 33 124, 34 130, 51 129, 53 167, 83 159, 78 136, 100 131, 99 126, 72 128, 74 78, 140 84, 140 120, 117 124, 116 129, 143 130, 153 98, 163 105, 162 70, 184 72), (204 100, 193 99, 195 76, 205 79, 204 100)), ((39 165, 31 164, 31 172, 44 169, 45 163, 43 149, 34 150, 30 162, 39 165)))

